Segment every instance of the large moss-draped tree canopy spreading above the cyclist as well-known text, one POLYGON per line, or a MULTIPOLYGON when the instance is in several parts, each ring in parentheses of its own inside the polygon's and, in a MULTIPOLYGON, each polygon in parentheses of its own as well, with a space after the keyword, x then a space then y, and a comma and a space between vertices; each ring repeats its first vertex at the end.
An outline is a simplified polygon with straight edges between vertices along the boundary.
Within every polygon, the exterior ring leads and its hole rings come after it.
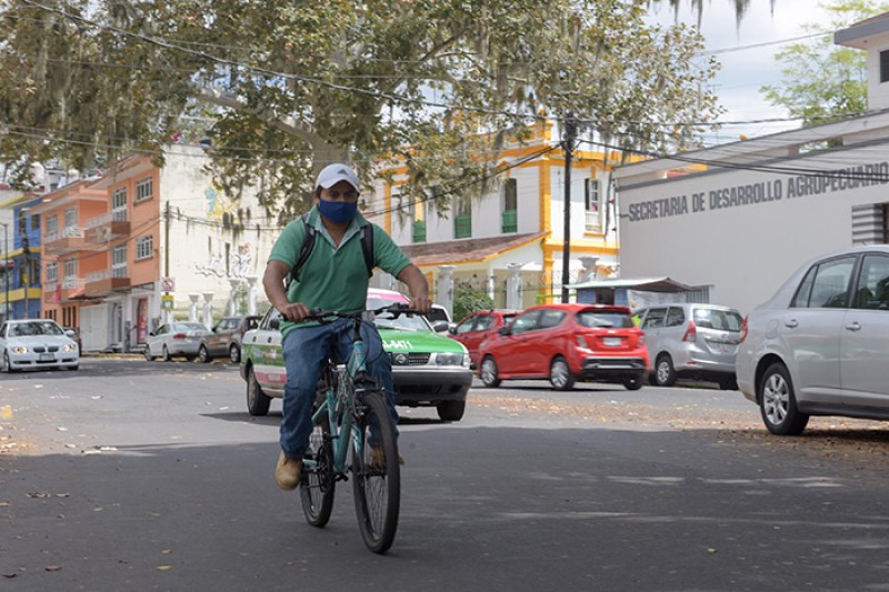
MULTIPOLYGON (((719 113, 717 63, 646 0, 8 0, 0 162, 80 170, 207 122, 212 170, 270 214, 304 208, 326 163, 401 159, 447 208, 541 113, 626 148, 695 146, 719 113), (249 8, 249 9, 248 9, 249 8), (483 131, 486 133, 479 133, 483 131)), ((170 148, 168 148, 170 150, 170 148)))

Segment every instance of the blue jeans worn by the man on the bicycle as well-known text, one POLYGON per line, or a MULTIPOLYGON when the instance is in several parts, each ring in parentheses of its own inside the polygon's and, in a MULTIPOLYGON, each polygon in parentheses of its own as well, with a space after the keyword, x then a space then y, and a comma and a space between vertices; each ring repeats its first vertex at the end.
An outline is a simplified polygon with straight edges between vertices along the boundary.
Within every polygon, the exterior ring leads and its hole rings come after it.
MULTIPOLYGON (((287 384, 281 421, 281 450, 289 459, 301 459, 312 433, 312 403, 328 358, 344 362, 352 351, 354 321, 337 319, 330 323, 292 329, 282 343, 287 384)), ((361 323, 368 374, 384 389, 392 424, 398 425, 396 394, 392 387, 392 363, 382 349, 380 333, 373 323, 361 323)))

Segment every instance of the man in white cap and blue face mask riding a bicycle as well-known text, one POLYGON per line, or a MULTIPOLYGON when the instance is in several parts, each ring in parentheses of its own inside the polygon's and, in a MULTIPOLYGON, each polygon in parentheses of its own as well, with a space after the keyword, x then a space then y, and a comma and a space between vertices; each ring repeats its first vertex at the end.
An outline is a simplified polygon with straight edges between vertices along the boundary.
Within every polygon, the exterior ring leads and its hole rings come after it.
MULTIPOLYGON (((422 313, 431 308, 429 284, 422 271, 377 224, 358 212, 358 175, 346 164, 326 167, 318 175, 314 207, 309 214, 290 222, 274 243, 262 277, 266 295, 283 320, 282 350, 287 368, 281 453, 274 479, 284 490, 299 485, 302 454, 312 431, 312 403, 327 358, 346 360, 352 335, 347 321, 303 322, 311 309, 358 312, 364 310, 369 268, 379 267, 407 284, 410 307, 422 313), (311 229, 307 230, 307 227, 311 229), (362 230, 363 229, 363 230, 362 230), (313 230, 313 233, 311 232, 313 230), (306 233, 314 237, 308 258, 302 260, 306 233), (372 232, 372 262, 364 260, 362 234, 372 232), (300 263, 298 265, 298 263, 300 263), (298 268, 289 287, 284 280, 298 268)), ((392 421, 398 422, 392 387, 392 365, 372 323, 362 323, 361 339, 367 347, 368 373, 386 390, 392 421)))

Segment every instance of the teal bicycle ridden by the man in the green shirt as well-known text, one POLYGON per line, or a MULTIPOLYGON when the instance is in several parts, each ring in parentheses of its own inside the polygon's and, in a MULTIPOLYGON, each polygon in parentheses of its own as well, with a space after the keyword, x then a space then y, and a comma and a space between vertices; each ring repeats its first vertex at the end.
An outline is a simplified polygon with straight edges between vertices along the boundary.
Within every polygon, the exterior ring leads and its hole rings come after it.
POLYGON ((314 428, 302 458, 302 512, 312 526, 326 526, 333 510, 336 484, 348 481, 351 473, 361 536, 374 553, 384 553, 394 541, 401 473, 396 427, 386 393, 367 374, 360 331, 367 313, 419 313, 403 307, 392 304, 359 313, 314 309, 306 318, 321 322, 331 318, 352 320, 353 343, 344 364, 328 359, 321 373, 312 412, 314 428), (351 465, 346 462, 349 452, 351 465))

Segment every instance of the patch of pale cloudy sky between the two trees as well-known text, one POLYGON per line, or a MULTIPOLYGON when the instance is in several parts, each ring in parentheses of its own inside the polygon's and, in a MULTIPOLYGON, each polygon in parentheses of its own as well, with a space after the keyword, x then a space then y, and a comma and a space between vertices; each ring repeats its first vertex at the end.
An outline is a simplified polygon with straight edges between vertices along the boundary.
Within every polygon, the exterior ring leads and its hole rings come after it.
MULTIPOLYGON (((695 23, 697 17, 683 0, 679 19, 695 23)), ((768 103, 759 89, 781 80, 780 64, 775 53, 781 49, 778 41, 811 34, 803 24, 828 23, 828 12, 817 0, 776 0, 775 11, 769 0, 751 0, 740 27, 735 19, 733 0, 708 0, 705 2, 701 32, 707 39, 708 50, 720 51, 716 58, 722 70, 715 80, 715 90, 727 112, 721 121, 750 121, 743 126, 726 126, 718 137, 707 136, 707 143, 735 141, 740 133, 748 138, 767 136, 783 129, 799 127, 798 121, 783 123, 753 123, 756 120, 786 118, 783 109, 768 103), (747 48, 747 46, 761 46, 747 48)), ((671 23, 673 11, 665 1, 651 9, 658 22, 671 23)))

